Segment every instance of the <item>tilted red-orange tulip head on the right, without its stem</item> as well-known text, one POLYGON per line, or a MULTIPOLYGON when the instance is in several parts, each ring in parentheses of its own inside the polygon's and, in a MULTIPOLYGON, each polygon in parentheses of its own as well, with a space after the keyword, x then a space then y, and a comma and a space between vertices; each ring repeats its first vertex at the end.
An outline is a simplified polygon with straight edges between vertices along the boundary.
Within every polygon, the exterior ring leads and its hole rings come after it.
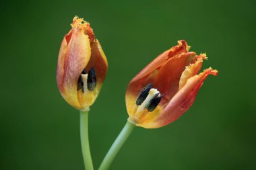
POLYGON ((205 54, 189 52, 185 40, 166 50, 138 73, 125 95, 129 122, 143 128, 160 128, 182 116, 193 104, 197 92, 212 68, 201 69, 205 54))

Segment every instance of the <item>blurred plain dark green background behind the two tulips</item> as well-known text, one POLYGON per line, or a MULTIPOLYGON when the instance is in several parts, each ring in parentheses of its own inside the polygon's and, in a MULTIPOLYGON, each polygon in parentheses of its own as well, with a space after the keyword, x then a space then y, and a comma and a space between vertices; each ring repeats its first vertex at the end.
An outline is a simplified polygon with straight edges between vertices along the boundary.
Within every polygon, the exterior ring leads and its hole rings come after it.
POLYGON ((191 109, 164 128, 136 128, 110 169, 256 169, 256 1, 1 1, 0 169, 84 169, 79 113, 56 66, 75 15, 90 22, 108 74, 90 112, 97 168, 127 120, 127 83, 187 40, 218 69, 191 109))

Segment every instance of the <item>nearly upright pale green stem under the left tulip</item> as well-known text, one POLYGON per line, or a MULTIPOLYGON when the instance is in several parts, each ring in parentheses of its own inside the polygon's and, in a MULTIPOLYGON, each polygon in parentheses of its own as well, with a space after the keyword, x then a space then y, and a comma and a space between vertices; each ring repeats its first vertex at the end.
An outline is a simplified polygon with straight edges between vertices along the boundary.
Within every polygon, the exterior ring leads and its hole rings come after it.
POLYGON ((80 111, 80 137, 82 145, 82 154, 84 158, 84 167, 86 170, 93 170, 92 157, 90 153, 89 137, 88 137, 88 116, 89 111, 80 111))

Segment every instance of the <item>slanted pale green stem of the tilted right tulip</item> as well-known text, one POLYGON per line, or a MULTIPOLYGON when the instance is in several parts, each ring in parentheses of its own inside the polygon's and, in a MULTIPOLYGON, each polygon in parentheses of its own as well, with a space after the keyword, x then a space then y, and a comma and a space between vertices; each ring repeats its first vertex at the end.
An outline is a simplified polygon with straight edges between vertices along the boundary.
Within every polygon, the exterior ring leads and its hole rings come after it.
POLYGON ((125 124, 125 127, 123 127, 123 130, 120 132, 119 136, 117 136, 117 139, 112 144, 108 153, 104 157, 98 170, 106 170, 108 169, 108 167, 110 167, 110 164, 113 162, 120 148, 123 146, 123 144, 129 137, 131 132, 133 132, 134 128, 135 128, 135 124, 127 121, 127 123, 125 124))

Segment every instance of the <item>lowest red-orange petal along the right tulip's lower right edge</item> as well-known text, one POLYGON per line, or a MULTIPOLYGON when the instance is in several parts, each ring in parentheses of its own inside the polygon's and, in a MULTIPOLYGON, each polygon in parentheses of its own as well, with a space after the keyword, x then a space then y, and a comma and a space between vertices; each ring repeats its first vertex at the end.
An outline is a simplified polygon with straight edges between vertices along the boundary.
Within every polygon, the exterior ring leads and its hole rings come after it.
POLYGON ((207 78, 207 76, 217 74, 218 71, 209 68, 203 71, 203 73, 191 77, 187 80, 187 83, 183 86, 183 88, 181 88, 181 90, 174 95, 158 118, 150 123, 140 124, 139 126, 143 128, 160 128, 174 122, 174 120, 181 117, 191 107, 201 85, 203 85, 203 81, 207 78))

